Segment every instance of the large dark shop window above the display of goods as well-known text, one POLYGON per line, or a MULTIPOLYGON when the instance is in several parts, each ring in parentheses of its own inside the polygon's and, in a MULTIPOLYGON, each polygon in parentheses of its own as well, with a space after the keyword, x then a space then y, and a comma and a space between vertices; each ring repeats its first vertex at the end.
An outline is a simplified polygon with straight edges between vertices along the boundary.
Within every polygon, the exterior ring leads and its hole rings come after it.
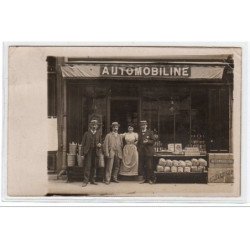
POLYGON ((160 144, 181 143, 205 151, 208 94, 206 89, 144 88, 142 118, 158 133, 160 144))

